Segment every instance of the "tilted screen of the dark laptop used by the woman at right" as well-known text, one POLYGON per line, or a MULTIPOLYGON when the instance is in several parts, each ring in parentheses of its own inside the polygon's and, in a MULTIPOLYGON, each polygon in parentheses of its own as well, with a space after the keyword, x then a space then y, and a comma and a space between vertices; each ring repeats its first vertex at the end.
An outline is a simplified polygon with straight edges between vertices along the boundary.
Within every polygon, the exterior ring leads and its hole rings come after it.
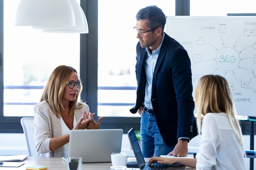
POLYGON ((141 170, 143 170, 146 163, 145 163, 144 157, 141 153, 139 143, 137 141, 137 138, 136 138, 133 128, 131 128, 127 134, 128 134, 129 140, 130 140, 130 144, 132 146, 132 150, 137 159, 138 166, 140 167, 141 170))

